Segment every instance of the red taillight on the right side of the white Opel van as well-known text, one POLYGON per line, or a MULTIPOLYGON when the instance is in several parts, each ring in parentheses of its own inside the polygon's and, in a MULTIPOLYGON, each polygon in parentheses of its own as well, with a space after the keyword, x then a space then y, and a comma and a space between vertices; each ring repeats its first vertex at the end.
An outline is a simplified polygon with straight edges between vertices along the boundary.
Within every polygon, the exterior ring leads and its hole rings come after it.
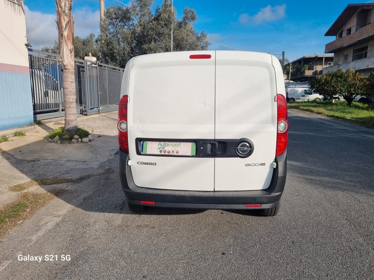
POLYGON ((287 101, 282 94, 277 94, 278 123, 277 123, 277 146, 275 155, 279 156, 285 152, 288 144, 288 113, 287 101))

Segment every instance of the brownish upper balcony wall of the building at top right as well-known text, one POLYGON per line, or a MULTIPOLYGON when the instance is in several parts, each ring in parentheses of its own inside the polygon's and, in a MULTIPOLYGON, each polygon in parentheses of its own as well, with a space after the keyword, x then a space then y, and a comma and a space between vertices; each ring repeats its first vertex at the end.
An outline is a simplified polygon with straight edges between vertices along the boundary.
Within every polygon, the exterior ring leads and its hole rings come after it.
MULTIPOLYGON (((359 44, 374 39, 374 23, 358 29, 352 34, 338 38, 325 46, 325 53, 335 53, 347 46, 359 44)), ((331 66, 330 66, 331 67, 331 66)))

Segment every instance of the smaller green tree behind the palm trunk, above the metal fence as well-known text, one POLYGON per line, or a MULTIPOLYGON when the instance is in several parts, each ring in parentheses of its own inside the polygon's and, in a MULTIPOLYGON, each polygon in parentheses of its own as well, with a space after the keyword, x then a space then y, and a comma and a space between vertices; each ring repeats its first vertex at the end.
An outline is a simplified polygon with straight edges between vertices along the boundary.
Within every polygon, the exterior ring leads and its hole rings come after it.
MULTIPOLYGON (((99 46, 95 34, 91 33, 87 37, 74 36, 74 55, 75 58, 84 59, 91 53, 92 56, 99 56, 99 46)), ((46 45, 42 48, 43 52, 60 53, 60 47, 57 41, 53 45, 46 45)))

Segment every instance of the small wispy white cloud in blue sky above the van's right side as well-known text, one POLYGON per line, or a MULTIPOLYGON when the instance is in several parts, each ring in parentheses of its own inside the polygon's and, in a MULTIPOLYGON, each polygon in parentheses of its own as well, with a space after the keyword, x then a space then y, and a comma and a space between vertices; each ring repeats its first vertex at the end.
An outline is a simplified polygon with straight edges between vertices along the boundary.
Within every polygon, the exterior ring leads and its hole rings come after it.
POLYGON ((276 21, 284 18, 286 15, 286 4, 276 5, 274 7, 267 5, 261 8, 255 15, 242 13, 239 15, 239 22, 242 25, 261 24, 263 22, 276 21))

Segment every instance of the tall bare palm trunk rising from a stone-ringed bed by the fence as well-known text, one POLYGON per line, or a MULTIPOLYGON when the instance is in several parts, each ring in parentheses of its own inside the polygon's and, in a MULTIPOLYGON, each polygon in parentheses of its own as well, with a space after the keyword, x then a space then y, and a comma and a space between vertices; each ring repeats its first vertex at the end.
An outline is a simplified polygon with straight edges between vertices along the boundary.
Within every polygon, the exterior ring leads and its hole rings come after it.
POLYGON ((77 133, 77 103, 74 73, 74 22, 72 0, 56 0, 58 43, 61 52, 62 89, 64 91, 65 131, 77 133))

